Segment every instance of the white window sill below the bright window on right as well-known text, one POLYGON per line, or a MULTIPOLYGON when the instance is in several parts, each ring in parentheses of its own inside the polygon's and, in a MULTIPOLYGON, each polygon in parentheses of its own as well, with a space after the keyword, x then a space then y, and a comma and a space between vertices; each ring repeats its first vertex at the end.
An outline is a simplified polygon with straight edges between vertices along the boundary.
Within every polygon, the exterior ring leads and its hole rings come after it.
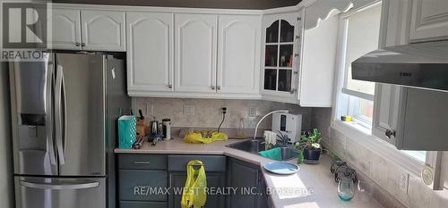
POLYGON ((373 136, 370 129, 356 123, 339 120, 332 121, 332 129, 336 129, 343 133, 347 138, 347 144, 349 144, 349 142, 356 142, 375 154, 382 156, 386 161, 394 162, 396 165, 401 166, 404 170, 409 171, 409 174, 412 174, 414 177, 420 178, 420 173, 425 166, 425 162, 419 162, 408 154, 401 152, 395 146, 373 136))

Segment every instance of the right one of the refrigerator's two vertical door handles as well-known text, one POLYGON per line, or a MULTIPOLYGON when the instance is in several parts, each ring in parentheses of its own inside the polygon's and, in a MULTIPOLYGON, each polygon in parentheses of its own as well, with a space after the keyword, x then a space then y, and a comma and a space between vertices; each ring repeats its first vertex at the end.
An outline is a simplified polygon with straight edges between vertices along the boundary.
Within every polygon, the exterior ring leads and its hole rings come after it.
MULTIPOLYGON (((56 67, 56 89, 55 89, 55 122, 56 122, 56 146, 57 155, 59 156, 59 163, 65 164, 65 148, 63 144, 63 137, 65 137, 65 121, 63 121, 62 102, 65 99, 64 91, 64 68, 61 65, 56 67), (64 95, 64 98, 62 97, 64 95), (64 124, 63 124, 64 122, 64 124), (64 125, 64 126, 63 126, 64 125), (63 129, 64 128, 64 129, 63 129)), ((65 104, 66 102, 64 102, 65 104)), ((65 110, 64 110, 65 111, 65 110)), ((65 117, 65 116, 64 116, 65 117)))

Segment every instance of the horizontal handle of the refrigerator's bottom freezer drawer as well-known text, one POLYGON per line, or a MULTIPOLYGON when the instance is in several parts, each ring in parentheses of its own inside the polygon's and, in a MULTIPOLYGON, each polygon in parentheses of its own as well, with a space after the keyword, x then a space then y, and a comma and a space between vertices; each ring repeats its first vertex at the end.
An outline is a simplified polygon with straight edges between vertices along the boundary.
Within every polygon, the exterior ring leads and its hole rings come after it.
POLYGON ((85 183, 36 183, 26 180, 21 180, 21 185, 23 187, 32 187, 38 189, 50 189, 50 190, 73 190, 73 189, 86 189, 91 187, 98 187, 98 181, 87 181, 85 183))

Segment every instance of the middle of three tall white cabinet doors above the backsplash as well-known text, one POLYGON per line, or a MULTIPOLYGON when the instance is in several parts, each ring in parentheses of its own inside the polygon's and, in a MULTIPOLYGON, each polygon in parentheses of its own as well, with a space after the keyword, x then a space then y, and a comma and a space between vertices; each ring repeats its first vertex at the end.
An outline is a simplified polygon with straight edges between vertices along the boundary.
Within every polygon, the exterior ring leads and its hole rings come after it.
POLYGON ((177 92, 216 92, 214 14, 175 14, 175 87, 177 92))

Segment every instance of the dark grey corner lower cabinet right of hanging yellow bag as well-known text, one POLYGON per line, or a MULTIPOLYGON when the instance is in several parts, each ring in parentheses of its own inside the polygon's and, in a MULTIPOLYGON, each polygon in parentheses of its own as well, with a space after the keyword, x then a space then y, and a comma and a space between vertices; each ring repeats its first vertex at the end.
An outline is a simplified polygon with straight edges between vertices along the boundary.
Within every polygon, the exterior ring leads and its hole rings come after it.
POLYGON ((229 158, 227 172, 227 186, 236 190, 228 196, 228 208, 268 207, 263 174, 258 165, 229 158))

